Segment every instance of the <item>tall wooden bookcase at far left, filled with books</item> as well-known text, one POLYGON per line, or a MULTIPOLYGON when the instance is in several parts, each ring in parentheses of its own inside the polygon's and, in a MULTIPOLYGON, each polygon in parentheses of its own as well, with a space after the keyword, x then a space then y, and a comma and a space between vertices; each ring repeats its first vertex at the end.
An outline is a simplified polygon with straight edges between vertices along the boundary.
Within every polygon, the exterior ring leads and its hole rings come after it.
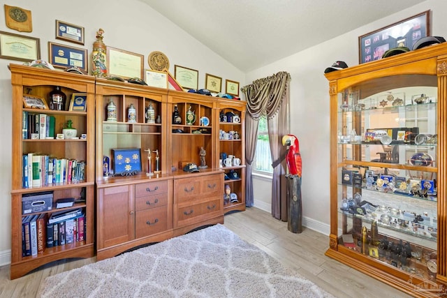
MULTIPOLYGON (((9 68, 13 84, 10 265, 10 278, 13 279, 55 260, 94 255, 95 84, 94 77, 87 75, 17 64, 10 64, 9 68), (24 105, 24 97, 28 96, 42 98, 50 105, 49 94, 56 87, 66 95, 66 103, 59 110, 36 108, 33 102, 29 104, 34 107, 24 105), (78 97, 79 102, 71 105, 71 101, 78 97), (38 119, 37 127, 31 126, 35 119, 38 119), (76 138, 74 135, 61 136, 68 121, 77 129, 76 138), (30 167, 31 172, 27 172, 30 167), (48 194, 52 200, 45 202, 45 209, 24 208, 27 196, 48 194), (56 209, 58 199, 70 197, 77 199, 73 207, 56 209), (27 238, 22 234, 25 231, 22 223, 29 216, 42 218, 41 228, 46 229, 48 218, 55 212, 78 209, 85 223, 76 221, 84 229, 83 237, 76 238, 76 234, 71 234, 73 238, 68 239, 71 241, 61 241, 63 238, 59 237, 59 243, 56 237, 53 244, 53 241, 47 242, 47 230, 37 230, 37 244, 41 244, 41 249, 35 255, 28 255, 26 245, 22 246, 26 242, 22 237, 27 238)), ((35 206, 43 202, 34 201, 35 206)))

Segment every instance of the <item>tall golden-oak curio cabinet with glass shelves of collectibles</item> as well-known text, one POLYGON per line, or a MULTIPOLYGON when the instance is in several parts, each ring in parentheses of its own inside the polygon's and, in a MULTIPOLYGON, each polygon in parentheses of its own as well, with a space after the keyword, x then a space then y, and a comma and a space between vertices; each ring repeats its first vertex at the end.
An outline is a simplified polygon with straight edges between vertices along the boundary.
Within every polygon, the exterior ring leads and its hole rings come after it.
POLYGON ((415 297, 447 283, 447 45, 325 74, 326 255, 415 297))

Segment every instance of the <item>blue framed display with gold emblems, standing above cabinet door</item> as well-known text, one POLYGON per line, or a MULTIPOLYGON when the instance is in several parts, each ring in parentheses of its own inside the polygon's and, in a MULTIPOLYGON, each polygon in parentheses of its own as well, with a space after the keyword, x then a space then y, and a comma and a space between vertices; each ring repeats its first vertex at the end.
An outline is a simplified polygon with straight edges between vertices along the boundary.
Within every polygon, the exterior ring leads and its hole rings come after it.
POLYGON ((141 150, 139 148, 112 149, 113 172, 130 176, 141 172, 141 150))

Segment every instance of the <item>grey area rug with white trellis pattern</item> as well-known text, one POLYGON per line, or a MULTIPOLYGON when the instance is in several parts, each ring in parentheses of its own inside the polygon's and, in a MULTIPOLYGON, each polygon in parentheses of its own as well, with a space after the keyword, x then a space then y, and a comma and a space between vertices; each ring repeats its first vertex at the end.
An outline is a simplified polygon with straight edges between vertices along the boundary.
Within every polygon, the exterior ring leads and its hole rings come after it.
POLYGON ((332 297, 223 225, 49 276, 37 297, 332 297))

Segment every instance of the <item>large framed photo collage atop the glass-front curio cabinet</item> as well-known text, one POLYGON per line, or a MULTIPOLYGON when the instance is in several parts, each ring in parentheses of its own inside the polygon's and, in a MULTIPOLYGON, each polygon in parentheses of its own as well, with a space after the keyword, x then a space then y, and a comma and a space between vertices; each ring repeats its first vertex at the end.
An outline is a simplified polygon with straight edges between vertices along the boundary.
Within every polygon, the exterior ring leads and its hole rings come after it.
POLYGON ((359 63, 382 59, 393 47, 413 48, 419 38, 430 36, 430 10, 358 37, 359 63))

